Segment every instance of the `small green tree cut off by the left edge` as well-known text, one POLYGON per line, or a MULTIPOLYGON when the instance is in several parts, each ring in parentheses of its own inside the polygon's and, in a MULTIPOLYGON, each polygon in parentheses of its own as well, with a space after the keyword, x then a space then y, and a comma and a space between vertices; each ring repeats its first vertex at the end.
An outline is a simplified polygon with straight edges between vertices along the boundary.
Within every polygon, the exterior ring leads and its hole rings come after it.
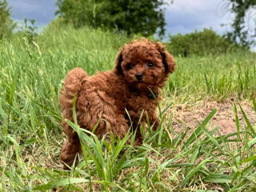
POLYGON ((0 0, 0 39, 6 38, 14 30, 15 23, 10 18, 10 7, 6 0, 0 0))

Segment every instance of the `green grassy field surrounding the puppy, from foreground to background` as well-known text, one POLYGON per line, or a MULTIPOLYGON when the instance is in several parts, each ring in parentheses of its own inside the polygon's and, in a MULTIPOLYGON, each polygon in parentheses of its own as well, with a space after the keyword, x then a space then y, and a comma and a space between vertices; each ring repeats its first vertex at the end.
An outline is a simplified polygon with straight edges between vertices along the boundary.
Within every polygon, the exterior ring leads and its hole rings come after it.
POLYGON ((116 144, 98 141, 72 124, 83 153, 78 167, 62 170, 58 158, 65 135, 58 98, 63 78, 75 66, 88 74, 113 69, 118 49, 129 41, 101 30, 49 26, 34 41, 19 35, 0 42, 2 191, 256 190, 256 54, 248 52, 176 56, 158 130, 143 133, 142 146, 127 146, 127 138, 116 144), (234 133, 222 134, 210 124, 218 115, 214 108, 195 126, 176 115, 181 106, 225 106, 227 101, 234 133))

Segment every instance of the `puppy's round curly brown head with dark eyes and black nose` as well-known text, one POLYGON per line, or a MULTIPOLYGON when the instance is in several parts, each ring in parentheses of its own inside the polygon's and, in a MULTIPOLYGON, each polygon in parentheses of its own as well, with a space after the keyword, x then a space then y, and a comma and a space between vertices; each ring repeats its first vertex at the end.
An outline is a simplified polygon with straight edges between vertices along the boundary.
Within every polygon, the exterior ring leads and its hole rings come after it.
POLYGON ((146 38, 123 46, 115 66, 116 73, 138 90, 162 87, 168 74, 173 73, 174 69, 174 58, 166 51, 165 46, 146 38))

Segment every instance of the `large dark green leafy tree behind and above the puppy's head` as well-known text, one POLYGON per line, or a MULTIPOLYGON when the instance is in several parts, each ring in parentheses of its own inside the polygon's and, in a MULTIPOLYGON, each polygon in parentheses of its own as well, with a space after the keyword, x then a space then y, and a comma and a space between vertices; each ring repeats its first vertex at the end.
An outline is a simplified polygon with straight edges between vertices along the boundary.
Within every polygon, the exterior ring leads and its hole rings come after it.
POLYGON ((55 13, 74 26, 124 30, 127 34, 161 36, 166 25, 163 0, 58 0, 55 13))

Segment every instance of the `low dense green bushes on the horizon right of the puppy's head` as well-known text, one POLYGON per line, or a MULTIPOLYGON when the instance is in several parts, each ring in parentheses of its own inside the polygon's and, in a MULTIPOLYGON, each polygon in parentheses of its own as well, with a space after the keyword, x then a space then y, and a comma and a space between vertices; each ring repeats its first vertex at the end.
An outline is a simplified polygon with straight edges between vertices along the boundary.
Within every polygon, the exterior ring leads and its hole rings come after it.
POLYGON ((184 57, 190 54, 225 54, 232 50, 242 49, 241 46, 230 42, 211 29, 195 30, 193 33, 184 35, 170 35, 170 43, 167 43, 167 48, 172 54, 184 57))

